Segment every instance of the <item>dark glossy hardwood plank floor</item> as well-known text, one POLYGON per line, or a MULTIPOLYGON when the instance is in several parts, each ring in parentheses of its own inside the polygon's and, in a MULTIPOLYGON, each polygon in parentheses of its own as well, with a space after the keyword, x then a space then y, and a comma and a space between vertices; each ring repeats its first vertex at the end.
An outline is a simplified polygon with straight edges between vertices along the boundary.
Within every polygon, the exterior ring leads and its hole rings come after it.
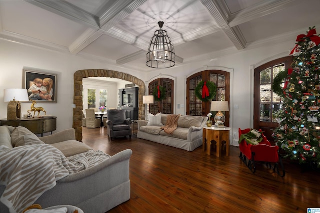
POLYGON ((320 173, 284 160, 280 177, 263 164, 255 174, 239 149, 220 158, 198 147, 193 152, 132 138, 113 138, 106 127, 83 128, 83 143, 107 154, 131 149, 129 201, 108 213, 306 213, 320 208, 320 173))

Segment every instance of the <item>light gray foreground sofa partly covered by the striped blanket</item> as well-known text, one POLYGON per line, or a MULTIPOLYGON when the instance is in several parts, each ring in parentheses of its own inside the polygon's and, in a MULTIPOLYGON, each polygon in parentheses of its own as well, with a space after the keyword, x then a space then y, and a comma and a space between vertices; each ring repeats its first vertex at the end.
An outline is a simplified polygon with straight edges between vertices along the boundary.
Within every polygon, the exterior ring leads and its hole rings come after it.
MULTIPOLYGON (((0 146, 14 149, 11 133, 14 127, 0 126, 0 146)), ((73 156, 91 150, 76 141, 74 129, 67 129, 39 138, 44 143, 59 149, 64 156, 73 156)), ((2 147, 3 148, 3 147, 2 147)), ((84 213, 105 213, 130 199, 129 159, 130 149, 123 150, 98 165, 58 180, 56 185, 44 192, 34 204, 47 208, 57 205, 72 205, 84 213)), ((32 178, 32 177, 30 177, 32 178)), ((0 197, 5 189, 0 185, 0 197)), ((0 202, 0 213, 9 213, 0 202)))

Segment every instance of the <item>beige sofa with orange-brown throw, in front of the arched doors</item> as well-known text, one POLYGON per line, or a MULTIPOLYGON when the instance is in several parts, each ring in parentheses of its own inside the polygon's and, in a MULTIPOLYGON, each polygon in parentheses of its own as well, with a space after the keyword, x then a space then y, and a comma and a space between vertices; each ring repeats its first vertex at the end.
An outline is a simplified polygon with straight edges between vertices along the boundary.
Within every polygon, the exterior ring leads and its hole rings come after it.
POLYGON ((137 138, 165 144, 179 149, 193 151, 202 145, 202 126, 205 126, 207 117, 180 115, 177 128, 173 134, 166 134, 161 126, 166 124, 168 114, 161 114, 160 123, 150 125, 148 121, 137 120, 137 138), (149 123, 149 124, 148 124, 149 123))

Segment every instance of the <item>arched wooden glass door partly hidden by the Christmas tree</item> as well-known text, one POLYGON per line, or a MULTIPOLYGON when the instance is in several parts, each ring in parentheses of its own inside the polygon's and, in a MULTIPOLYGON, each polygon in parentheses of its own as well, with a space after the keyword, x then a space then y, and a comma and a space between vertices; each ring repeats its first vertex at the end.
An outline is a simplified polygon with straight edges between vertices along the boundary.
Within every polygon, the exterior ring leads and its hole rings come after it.
POLYGON ((261 129, 269 141, 273 141, 273 129, 278 125, 272 114, 280 109, 283 103, 281 98, 272 92, 273 78, 281 70, 288 69, 291 62, 292 57, 287 56, 254 69, 253 128, 261 129))

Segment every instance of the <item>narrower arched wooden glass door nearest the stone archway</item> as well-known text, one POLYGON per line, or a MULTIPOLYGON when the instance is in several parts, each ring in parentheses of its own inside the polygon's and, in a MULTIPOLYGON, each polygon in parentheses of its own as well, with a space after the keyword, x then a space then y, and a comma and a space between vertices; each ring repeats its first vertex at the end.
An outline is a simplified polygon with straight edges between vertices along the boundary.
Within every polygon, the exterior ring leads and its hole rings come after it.
POLYGON ((162 114, 173 114, 173 80, 169 78, 157 78, 149 83, 149 95, 157 90, 157 85, 165 89, 165 97, 161 101, 153 101, 149 104, 149 112, 153 115, 161 112, 162 114))

